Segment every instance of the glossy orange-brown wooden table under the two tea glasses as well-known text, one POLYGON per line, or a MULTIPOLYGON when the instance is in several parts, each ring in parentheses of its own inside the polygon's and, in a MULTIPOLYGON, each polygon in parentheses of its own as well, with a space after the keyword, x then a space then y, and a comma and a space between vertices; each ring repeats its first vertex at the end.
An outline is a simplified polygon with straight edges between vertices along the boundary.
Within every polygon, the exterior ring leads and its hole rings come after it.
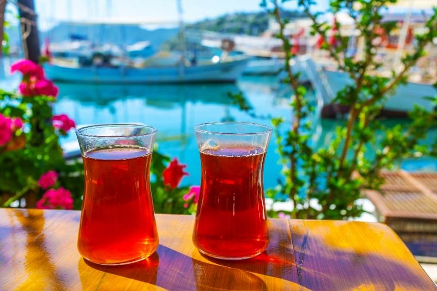
POLYGON ((160 245, 131 265, 76 249, 80 211, 0 209, 0 290, 435 290, 387 226, 270 219, 270 243, 242 261, 202 257, 194 217, 156 215, 160 245))

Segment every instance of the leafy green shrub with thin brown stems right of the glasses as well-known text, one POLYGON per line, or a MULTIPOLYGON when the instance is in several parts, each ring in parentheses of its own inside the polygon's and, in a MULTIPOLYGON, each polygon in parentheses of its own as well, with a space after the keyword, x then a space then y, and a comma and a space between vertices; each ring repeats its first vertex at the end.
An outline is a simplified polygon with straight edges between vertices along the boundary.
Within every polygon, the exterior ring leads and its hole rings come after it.
MULTIPOLYGON (((382 23, 382 11, 387 3, 395 0, 331 0, 331 12, 347 12, 356 22, 356 29, 364 41, 364 57, 356 58, 345 55, 349 38, 336 32, 336 46, 328 45, 327 32, 332 28, 327 23, 320 23, 318 14, 312 13, 314 1, 299 0, 299 6, 313 21, 312 35, 320 35, 325 49, 338 66, 339 70, 349 74, 352 83, 345 85, 338 92, 335 102, 348 105, 350 111, 344 125, 337 127, 335 137, 324 147, 313 148, 309 136, 310 124, 306 117, 313 113, 307 100, 306 90, 299 85, 299 75, 290 67, 291 44, 284 35, 286 20, 281 14, 277 0, 262 1, 265 7, 277 20, 280 26, 278 37, 283 40, 286 52, 286 81, 294 91, 291 107, 294 119, 291 127, 282 118, 272 120, 280 163, 283 166, 282 179, 278 186, 269 189, 267 195, 275 201, 291 199, 294 210, 286 212, 295 218, 345 219, 359 216, 364 210, 357 205, 363 189, 378 189, 382 183, 380 171, 392 168, 401 158, 435 155, 437 141, 434 146, 420 146, 420 140, 427 129, 437 125, 437 111, 427 112, 416 106, 409 113, 409 126, 397 125, 384 128, 376 117, 389 98, 389 93, 406 82, 409 68, 425 55, 425 47, 432 43, 437 33, 437 10, 426 23, 427 32, 416 36, 416 47, 412 53, 403 57, 403 68, 393 72, 391 78, 379 77, 372 72, 381 67, 377 61, 374 40, 378 30, 389 33, 396 23, 382 23), (356 10, 355 7, 359 6, 356 10), (284 130, 286 127, 286 130, 284 130), (382 130, 384 138, 376 140, 374 132, 382 130), (367 149, 375 154, 365 156, 367 149)), ((340 31, 340 25, 336 24, 340 31)), ((437 104, 437 97, 432 97, 437 104)), ((237 104, 244 104, 241 98, 237 104)), ((241 106, 244 108, 244 106, 241 106)), ((277 216, 274 211, 269 215, 277 216)))

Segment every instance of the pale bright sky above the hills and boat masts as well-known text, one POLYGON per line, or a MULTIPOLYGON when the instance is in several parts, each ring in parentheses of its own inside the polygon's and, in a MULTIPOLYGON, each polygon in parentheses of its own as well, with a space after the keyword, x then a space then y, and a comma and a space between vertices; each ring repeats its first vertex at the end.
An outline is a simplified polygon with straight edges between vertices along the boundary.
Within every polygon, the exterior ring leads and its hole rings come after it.
MULTIPOLYGON (((62 20, 123 18, 141 21, 176 21, 176 0, 34 0, 41 30, 47 30, 62 20)), ((318 0, 318 9, 329 0, 318 0)), ((184 20, 195 22, 232 12, 260 11, 260 0, 182 0, 184 20)), ((297 0, 286 2, 288 9, 296 8, 297 0)))

